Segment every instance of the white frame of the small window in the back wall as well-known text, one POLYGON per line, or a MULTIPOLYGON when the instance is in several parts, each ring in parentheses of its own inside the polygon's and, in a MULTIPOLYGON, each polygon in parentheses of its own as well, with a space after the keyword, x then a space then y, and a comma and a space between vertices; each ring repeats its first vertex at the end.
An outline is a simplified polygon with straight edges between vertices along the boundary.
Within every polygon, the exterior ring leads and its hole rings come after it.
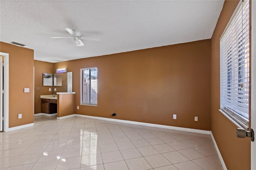
MULTIPOLYGON (((90 91, 91 91, 91 88, 92 88, 92 84, 91 84, 91 77, 92 77, 92 75, 90 74, 90 85, 89 85, 89 88, 90 88, 90 91)), ((97 106, 98 105, 98 68, 97 67, 86 67, 86 68, 82 68, 82 69, 80 69, 80 105, 85 105, 85 106, 97 106), (84 71, 85 70, 91 70, 91 69, 97 69, 97 79, 96 79, 96 103, 92 103, 92 97, 95 97, 95 95, 94 96, 92 96, 92 95, 89 95, 88 97, 89 97, 89 102, 85 102, 84 100, 86 100, 86 99, 84 99, 85 97, 84 97, 84 95, 86 95, 86 94, 84 94, 84 93, 86 93, 86 92, 84 92, 84 88, 86 88, 86 87, 84 87, 84 71)))

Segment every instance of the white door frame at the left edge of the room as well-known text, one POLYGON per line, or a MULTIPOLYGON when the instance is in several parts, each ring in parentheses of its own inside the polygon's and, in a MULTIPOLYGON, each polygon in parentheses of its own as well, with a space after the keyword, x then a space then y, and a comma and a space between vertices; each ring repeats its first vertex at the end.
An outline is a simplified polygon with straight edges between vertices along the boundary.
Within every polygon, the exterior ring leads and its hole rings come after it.
POLYGON ((9 131, 9 54, 0 52, 4 56, 4 132, 9 131))

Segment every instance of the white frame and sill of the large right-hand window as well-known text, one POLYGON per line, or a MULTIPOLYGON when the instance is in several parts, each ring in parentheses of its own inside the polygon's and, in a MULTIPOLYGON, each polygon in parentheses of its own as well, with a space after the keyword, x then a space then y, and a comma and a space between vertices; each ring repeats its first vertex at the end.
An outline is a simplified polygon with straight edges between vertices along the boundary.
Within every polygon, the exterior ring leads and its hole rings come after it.
MULTIPOLYGON (((221 48, 221 41, 222 41, 222 39, 226 36, 226 34, 228 34, 228 32, 229 32, 229 30, 230 30, 230 28, 231 28, 231 26, 232 26, 232 24, 235 22, 235 20, 236 20, 236 18, 237 18, 237 16, 238 16, 238 14, 240 13, 240 11, 242 10, 242 8, 243 8, 243 5, 244 4, 246 4, 246 2, 248 2, 249 0, 246 0, 246 1, 243 1, 243 0, 241 0, 239 3, 238 3, 238 6, 236 7, 236 10, 234 11, 234 13, 233 13, 233 15, 232 15, 232 17, 230 18, 230 21, 228 22, 228 24, 227 24, 227 26, 226 26, 226 28, 225 28, 225 30, 224 30, 224 32, 223 32, 223 34, 222 34, 222 36, 220 37, 220 49, 222 49, 221 48)), ((250 3, 248 2, 248 10, 250 10, 250 3)), ((250 18, 249 18, 249 20, 250 20, 250 18)), ((250 25, 249 25, 250 26, 250 25)), ((249 34, 249 30, 248 30, 248 34, 249 34)), ((235 38, 238 38, 239 39, 239 37, 238 36, 236 36, 235 38)), ((250 35, 248 36, 248 43, 250 44, 250 35)), ((250 85, 250 74, 251 74, 251 69, 250 69, 250 57, 251 57, 251 54, 250 54, 250 46, 248 47, 248 51, 249 51, 249 57, 248 57, 248 62, 249 62, 249 64, 248 64, 248 70, 249 70, 249 72, 248 72, 248 79, 249 79, 249 85, 250 85)), ((239 59, 241 59, 241 57, 242 56, 237 56, 237 57, 235 57, 236 59, 235 60, 237 60, 236 61, 236 63, 238 64, 238 67, 239 67, 239 63, 241 62, 241 61, 239 61, 239 59)), ((228 61, 228 60, 227 60, 228 61)), ((234 61, 234 59, 232 59, 232 61, 234 61)), ((248 121, 246 121, 246 119, 244 119, 244 118, 242 118, 242 117, 240 117, 239 115, 238 115, 238 113, 235 113, 234 111, 232 111, 231 109, 229 109, 229 108, 227 108, 227 107, 223 107, 222 106, 222 74, 223 74, 223 72, 222 72, 222 54, 221 54, 221 50, 220 50, 220 109, 219 109, 219 111, 223 114, 223 115, 225 115, 230 121, 232 121, 232 123, 234 123, 235 125, 237 125, 238 127, 240 127, 240 128, 244 128, 244 129, 248 129, 249 128, 249 121, 250 121, 250 110, 248 111, 248 121)), ((230 77, 232 77, 232 73, 231 73, 231 69, 230 69, 230 77)), ((224 72, 225 73, 225 72, 224 72)), ((229 73, 229 70, 227 70, 226 69, 226 73, 229 73)), ((239 70, 239 68, 238 68, 238 77, 239 76, 241 76, 240 74, 240 70, 239 70)), ((234 73, 233 73, 234 74, 234 73)), ((242 73, 242 74, 244 74, 244 73, 242 73)), ((241 84, 241 82, 239 81, 239 78, 238 77, 236 77, 236 79, 235 80, 237 80, 238 81, 238 84, 240 83, 241 84)), ((228 78, 229 78, 229 75, 227 75, 227 84, 228 84, 228 78)), ((232 81, 235 81, 235 80, 231 80, 230 79, 230 81, 232 82, 232 81)), ((242 83, 243 85, 244 85, 244 83, 242 83)), ((243 86, 242 85, 242 86, 243 86)), ((241 86, 240 86, 241 87, 241 86)), ((227 90, 228 90, 228 88, 227 88, 227 90)), ((239 98, 239 97, 238 97, 239 98)), ((249 91, 248 91, 248 106, 249 106, 249 108, 250 108, 250 89, 249 89, 249 91)))

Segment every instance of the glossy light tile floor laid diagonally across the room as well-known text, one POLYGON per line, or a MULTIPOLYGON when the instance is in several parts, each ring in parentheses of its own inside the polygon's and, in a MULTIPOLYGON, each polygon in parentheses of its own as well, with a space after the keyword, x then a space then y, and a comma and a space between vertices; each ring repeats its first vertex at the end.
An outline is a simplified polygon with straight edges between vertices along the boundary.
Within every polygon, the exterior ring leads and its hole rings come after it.
POLYGON ((0 133, 1 170, 222 170, 210 135, 40 116, 0 133))

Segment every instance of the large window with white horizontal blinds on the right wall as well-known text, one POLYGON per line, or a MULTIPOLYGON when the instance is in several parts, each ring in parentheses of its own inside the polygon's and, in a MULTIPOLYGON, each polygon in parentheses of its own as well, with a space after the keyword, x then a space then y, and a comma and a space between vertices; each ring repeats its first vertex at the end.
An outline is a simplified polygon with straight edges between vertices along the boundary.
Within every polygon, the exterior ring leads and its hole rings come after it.
POLYGON ((249 0, 242 1, 220 39, 220 106, 237 123, 249 121, 249 0))

